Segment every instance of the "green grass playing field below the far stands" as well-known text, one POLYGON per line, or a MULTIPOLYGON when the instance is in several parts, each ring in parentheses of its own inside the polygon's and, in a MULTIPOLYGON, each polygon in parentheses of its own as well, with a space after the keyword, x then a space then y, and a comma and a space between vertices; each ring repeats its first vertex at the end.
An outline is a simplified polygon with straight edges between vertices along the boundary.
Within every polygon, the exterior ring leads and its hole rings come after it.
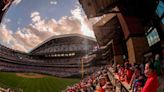
POLYGON ((15 73, 0 72, 0 86, 13 89, 21 88, 23 92, 61 92, 79 79, 65 79, 53 76, 44 78, 24 78, 15 73))

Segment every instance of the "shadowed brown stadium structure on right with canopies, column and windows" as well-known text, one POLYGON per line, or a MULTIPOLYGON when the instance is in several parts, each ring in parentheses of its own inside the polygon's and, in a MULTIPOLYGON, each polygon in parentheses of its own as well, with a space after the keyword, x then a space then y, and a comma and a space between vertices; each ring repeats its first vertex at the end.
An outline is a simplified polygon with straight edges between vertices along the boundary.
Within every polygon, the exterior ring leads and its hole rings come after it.
POLYGON ((79 0, 87 17, 100 20, 94 33, 106 60, 141 63, 164 57, 163 0, 79 0))

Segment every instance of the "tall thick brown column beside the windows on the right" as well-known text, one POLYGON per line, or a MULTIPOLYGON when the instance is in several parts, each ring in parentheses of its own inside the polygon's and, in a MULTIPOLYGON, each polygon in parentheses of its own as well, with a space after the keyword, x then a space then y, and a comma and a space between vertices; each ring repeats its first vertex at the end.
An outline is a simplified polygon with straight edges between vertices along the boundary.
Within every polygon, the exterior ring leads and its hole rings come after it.
POLYGON ((148 49, 144 27, 137 17, 123 16, 121 13, 117 17, 126 40, 129 62, 141 63, 144 58, 142 54, 148 49))

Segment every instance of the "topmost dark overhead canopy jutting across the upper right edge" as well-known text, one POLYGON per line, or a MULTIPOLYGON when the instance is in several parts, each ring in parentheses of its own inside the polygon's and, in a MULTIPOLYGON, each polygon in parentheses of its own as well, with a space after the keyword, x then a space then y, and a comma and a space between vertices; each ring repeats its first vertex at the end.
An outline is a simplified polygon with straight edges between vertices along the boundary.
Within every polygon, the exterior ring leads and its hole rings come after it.
POLYGON ((151 16, 159 0, 79 0, 88 18, 107 13, 119 13, 140 17, 151 16), (120 11, 113 10, 118 6, 120 11))

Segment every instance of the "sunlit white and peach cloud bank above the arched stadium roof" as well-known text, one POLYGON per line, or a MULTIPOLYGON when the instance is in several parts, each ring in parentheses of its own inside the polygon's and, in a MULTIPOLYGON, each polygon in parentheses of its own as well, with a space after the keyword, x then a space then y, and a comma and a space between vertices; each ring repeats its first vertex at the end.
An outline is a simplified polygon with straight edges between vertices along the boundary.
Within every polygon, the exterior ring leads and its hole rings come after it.
POLYGON ((0 26, 0 40, 6 46, 28 52, 38 44, 54 35, 79 33, 94 37, 91 23, 82 15, 79 7, 70 11, 72 16, 44 19, 38 11, 31 13, 31 23, 12 32, 5 24, 0 26))

